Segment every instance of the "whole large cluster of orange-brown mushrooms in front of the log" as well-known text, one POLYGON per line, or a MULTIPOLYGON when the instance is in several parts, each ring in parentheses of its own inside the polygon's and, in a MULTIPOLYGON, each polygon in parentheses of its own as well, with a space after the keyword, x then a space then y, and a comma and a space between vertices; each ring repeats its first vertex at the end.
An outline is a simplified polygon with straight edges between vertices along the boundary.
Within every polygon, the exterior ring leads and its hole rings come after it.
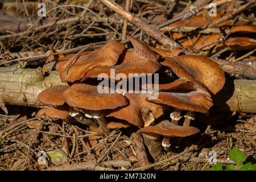
POLYGON ((61 81, 69 86, 43 90, 38 100, 49 107, 40 109, 37 117, 46 115, 64 121, 75 118, 88 125, 90 131, 99 133, 135 125, 139 127, 137 132, 148 138, 163 136, 164 147, 170 146, 171 137, 198 133, 196 127, 189 125, 195 112, 208 113, 213 105, 211 94, 224 86, 225 76, 220 66, 203 56, 180 55, 183 52, 179 49, 167 51, 128 38, 134 48, 125 49, 119 42, 108 42, 92 51, 62 57, 56 69, 61 81), (110 76, 113 68, 127 78, 129 73, 158 72, 158 98, 148 99, 148 93, 130 93, 130 90, 98 93, 97 76, 100 73, 110 76), (170 121, 159 118, 168 109, 173 109, 170 121), (186 113, 182 115, 181 110, 186 113), (178 125, 179 121, 184 121, 183 126, 178 125))

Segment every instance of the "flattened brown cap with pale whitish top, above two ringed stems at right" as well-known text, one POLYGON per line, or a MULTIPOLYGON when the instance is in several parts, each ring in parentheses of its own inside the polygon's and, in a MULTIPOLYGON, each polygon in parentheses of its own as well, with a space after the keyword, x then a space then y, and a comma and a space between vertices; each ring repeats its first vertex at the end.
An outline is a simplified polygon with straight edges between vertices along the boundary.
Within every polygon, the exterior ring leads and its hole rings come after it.
POLYGON ((207 94, 199 92, 188 93, 170 93, 159 92, 158 98, 147 101, 157 104, 169 105, 181 110, 190 110, 201 113, 207 113, 213 105, 212 100, 207 94))

